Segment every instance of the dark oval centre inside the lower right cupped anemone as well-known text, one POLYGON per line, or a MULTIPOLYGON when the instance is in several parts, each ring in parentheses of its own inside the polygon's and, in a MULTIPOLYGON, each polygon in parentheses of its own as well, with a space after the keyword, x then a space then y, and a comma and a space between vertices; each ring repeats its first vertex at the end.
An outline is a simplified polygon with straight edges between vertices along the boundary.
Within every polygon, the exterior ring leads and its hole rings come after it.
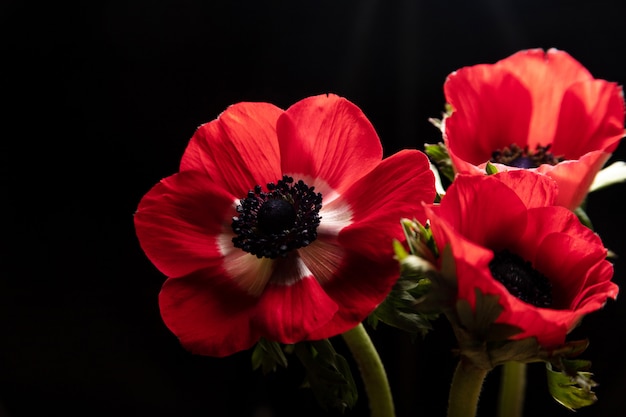
POLYGON ((520 256, 503 250, 497 252, 489 263, 491 275, 520 300, 535 307, 552 305, 552 284, 531 263, 520 256))

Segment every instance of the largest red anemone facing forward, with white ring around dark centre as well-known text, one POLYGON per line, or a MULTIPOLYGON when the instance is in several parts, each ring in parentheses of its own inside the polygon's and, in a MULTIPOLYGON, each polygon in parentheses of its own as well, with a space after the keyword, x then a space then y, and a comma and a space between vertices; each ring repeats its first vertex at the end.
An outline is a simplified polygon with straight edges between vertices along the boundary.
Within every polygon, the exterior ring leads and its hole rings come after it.
POLYGON ((400 218, 434 197, 423 153, 382 160, 361 110, 320 95, 286 111, 239 103, 200 126, 134 219, 168 277, 165 324, 191 352, 226 356, 360 323, 397 278, 400 218))

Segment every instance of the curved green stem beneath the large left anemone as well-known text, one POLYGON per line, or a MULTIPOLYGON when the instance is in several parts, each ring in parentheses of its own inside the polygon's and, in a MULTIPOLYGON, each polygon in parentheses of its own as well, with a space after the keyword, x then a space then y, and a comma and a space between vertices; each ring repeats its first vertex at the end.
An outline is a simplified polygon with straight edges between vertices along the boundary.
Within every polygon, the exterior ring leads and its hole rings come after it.
POLYGON ((365 327, 359 324, 342 336, 361 372, 372 417, 394 417, 396 414, 387 374, 365 327))

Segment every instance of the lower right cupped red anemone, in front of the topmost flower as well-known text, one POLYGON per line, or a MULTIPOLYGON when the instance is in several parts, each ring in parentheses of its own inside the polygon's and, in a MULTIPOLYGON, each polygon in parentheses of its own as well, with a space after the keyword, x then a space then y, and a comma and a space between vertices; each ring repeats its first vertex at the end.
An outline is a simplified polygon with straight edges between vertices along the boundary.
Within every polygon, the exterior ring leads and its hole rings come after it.
POLYGON ((476 289, 498 296, 496 322, 545 348, 618 292, 602 241, 552 205, 556 193, 553 180, 524 170, 458 175, 441 204, 426 209, 437 247, 452 249, 458 299, 475 308, 476 289))

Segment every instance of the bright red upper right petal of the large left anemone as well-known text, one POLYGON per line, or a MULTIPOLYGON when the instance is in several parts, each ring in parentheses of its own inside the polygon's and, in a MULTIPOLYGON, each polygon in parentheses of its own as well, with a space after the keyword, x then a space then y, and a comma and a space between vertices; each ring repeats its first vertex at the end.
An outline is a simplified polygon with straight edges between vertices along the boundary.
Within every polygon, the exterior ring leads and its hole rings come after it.
POLYGON ((309 97, 278 119, 282 170, 321 178, 341 193, 382 158, 376 131, 363 112, 335 95, 309 97))

